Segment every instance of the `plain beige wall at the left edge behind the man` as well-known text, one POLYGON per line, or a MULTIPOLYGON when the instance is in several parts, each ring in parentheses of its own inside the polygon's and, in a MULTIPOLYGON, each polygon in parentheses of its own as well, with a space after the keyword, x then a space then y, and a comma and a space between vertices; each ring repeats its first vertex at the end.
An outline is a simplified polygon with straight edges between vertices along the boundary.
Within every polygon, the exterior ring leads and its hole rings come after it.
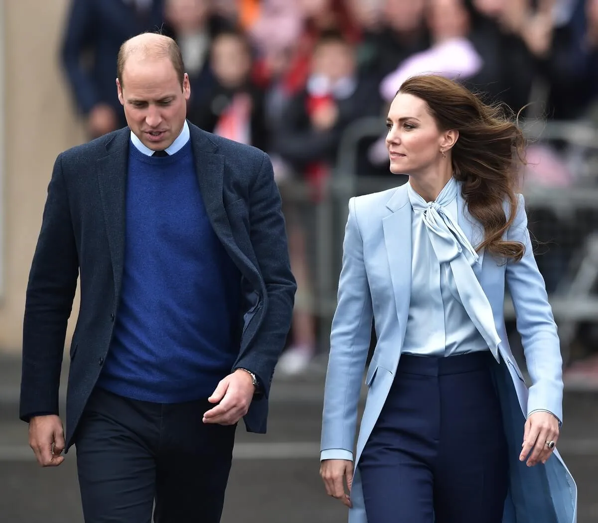
MULTIPOLYGON (((83 134, 58 57, 69 0, 0 2, 5 50, 5 157, 0 158, 4 170, 5 238, 0 351, 19 353, 25 289, 51 169, 56 155, 80 143, 83 134)), ((76 314, 77 307, 73 311, 75 317, 76 314)))

